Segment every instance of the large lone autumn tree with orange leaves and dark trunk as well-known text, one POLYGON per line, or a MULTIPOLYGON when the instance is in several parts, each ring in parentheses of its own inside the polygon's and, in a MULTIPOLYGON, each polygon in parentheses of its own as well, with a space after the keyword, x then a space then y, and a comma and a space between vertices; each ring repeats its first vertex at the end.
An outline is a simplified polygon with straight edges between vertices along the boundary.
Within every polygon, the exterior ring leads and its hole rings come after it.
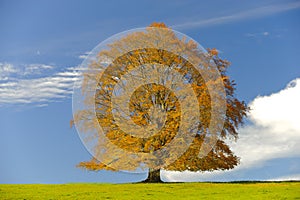
POLYGON ((230 62, 221 59, 216 49, 203 51, 163 23, 153 23, 144 32, 129 33, 108 46, 89 63, 89 70, 95 72, 84 74, 81 85, 83 94, 90 92, 91 83, 95 85, 93 95, 84 98, 94 113, 82 109, 74 114, 80 131, 96 129, 94 138, 89 138, 96 141, 94 157, 79 163, 79 167, 113 171, 149 168, 147 180, 156 182, 160 180, 160 169, 212 171, 238 165, 239 158, 224 140, 238 138, 237 128, 249 108, 236 98, 235 82, 226 72, 230 62), (146 47, 132 50, 130 45, 146 47), (213 70, 214 65, 220 76, 205 78, 194 63, 205 72, 213 70), (148 82, 141 84, 141 79, 148 82), (222 120, 215 125, 220 130, 218 137, 201 156, 205 140, 213 138, 212 111, 221 110, 218 103, 212 104, 211 88, 224 92, 225 96, 218 98, 226 107, 219 113, 222 120), (195 110, 199 115, 192 114, 195 110), (98 126, 109 142, 103 142, 98 126), (190 133, 192 137, 188 137, 190 133))

